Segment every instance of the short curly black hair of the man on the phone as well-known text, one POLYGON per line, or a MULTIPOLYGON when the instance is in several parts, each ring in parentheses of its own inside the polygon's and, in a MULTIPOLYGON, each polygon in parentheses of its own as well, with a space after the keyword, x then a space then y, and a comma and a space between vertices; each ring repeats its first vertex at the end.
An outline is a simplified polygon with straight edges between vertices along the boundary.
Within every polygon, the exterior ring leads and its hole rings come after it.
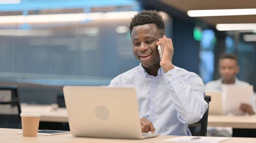
POLYGON ((163 21, 163 17, 158 14, 155 10, 142 11, 131 18, 131 23, 129 26, 130 34, 134 26, 137 25, 145 25, 154 23, 157 26, 160 34, 165 34, 165 23, 163 21))

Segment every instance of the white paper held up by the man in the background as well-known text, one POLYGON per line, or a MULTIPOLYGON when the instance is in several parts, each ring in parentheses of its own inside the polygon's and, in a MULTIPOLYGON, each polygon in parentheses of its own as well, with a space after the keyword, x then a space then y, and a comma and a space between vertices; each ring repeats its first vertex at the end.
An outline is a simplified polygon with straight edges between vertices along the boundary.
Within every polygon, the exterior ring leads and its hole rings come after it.
POLYGON ((238 87, 234 85, 222 85, 223 112, 224 114, 244 115, 245 113, 239 109, 240 104, 251 104, 251 96, 253 94, 253 86, 238 87))

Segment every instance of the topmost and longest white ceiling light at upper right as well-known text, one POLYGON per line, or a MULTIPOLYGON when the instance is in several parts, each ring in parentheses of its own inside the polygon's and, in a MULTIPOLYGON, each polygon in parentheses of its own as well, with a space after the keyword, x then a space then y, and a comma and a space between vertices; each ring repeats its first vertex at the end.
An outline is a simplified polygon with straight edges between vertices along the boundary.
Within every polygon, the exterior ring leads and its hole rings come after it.
POLYGON ((189 17, 212 17, 229 15, 254 15, 256 8, 251 9, 212 9, 212 10, 191 10, 187 12, 189 17))

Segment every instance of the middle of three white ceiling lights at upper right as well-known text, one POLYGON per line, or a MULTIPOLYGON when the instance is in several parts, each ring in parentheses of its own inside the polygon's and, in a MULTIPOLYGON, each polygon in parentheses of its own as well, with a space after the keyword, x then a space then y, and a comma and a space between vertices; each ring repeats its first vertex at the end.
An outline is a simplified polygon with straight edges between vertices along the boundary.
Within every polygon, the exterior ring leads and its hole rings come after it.
POLYGON ((256 23, 217 24, 218 31, 256 30, 256 23))

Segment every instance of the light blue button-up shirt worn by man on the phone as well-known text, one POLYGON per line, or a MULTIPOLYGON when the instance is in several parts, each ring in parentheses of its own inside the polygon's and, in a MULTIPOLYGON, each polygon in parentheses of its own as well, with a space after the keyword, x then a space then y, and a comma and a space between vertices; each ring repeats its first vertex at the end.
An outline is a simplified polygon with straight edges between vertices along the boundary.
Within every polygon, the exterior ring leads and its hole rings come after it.
POLYGON ((195 73, 176 67, 148 75, 141 64, 116 76, 111 87, 134 87, 140 118, 151 121, 161 135, 191 135, 188 124, 198 122, 208 108, 204 83, 195 73))

